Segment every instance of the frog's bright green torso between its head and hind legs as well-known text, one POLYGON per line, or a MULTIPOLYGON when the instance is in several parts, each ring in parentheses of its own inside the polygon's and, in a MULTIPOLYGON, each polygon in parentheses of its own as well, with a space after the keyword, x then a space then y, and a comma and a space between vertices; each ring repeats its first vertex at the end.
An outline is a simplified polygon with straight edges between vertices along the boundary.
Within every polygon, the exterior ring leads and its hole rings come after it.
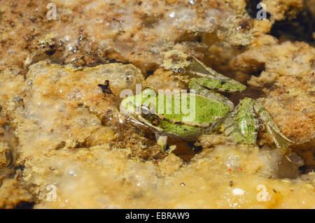
POLYGON ((205 129, 211 127, 211 124, 218 122, 230 112, 230 106, 226 103, 200 95, 195 95, 194 99, 189 94, 187 98, 179 97, 178 94, 172 96, 172 100, 165 98, 165 101, 164 111, 158 113, 162 117, 158 127, 167 134, 186 139, 200 136, 205 129))

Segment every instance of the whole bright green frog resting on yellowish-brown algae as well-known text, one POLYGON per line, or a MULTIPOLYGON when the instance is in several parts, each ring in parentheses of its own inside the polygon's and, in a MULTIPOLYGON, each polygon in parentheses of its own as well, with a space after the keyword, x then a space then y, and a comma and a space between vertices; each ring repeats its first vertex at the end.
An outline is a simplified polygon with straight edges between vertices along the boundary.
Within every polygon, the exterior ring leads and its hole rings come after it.
POLYGON ((237 143, 253 145, 260 127, 267 130, 283 151, 293 143, 255 99, 245 97, 235 107, 232 101, 218 93, 243 92, 246 86, 241 82, 180 52, 169 52, 161 66, 182 79, 190 77, 187 81, 189 92, 156 92, 146 88, 141 94, 123 99, 120 111, 153 129, 162 148, 167 145, 167 136, 193 140, 202 134, 218 132, 237 143))

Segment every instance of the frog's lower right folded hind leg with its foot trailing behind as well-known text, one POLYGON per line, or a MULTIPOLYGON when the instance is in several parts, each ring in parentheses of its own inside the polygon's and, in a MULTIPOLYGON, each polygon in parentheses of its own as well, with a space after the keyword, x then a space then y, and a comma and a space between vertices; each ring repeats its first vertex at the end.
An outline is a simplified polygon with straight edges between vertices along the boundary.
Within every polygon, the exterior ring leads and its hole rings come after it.
POLYGON ((234 138, 238 143, 254 144, 259 124, 265 126, 276 146, 284 152, 293 143, 281 133, 269 113, 251 98, 241 99, 235 110, 223 120, 221 128, 225 135, 234 138))

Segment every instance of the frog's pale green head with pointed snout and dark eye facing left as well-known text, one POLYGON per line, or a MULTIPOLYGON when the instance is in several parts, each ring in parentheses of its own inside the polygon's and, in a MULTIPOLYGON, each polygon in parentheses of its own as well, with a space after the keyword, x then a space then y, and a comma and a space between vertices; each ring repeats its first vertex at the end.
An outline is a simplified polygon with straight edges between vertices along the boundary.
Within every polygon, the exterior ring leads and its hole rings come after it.
POLYGON ((146 88, 141 94, 127 96, 120 103, 120 112, 131 115, 137 120, 147 119, 155 114, 157 92, 152 88, 146 88), (142 117, 142 118, 141 118, 142 117))

